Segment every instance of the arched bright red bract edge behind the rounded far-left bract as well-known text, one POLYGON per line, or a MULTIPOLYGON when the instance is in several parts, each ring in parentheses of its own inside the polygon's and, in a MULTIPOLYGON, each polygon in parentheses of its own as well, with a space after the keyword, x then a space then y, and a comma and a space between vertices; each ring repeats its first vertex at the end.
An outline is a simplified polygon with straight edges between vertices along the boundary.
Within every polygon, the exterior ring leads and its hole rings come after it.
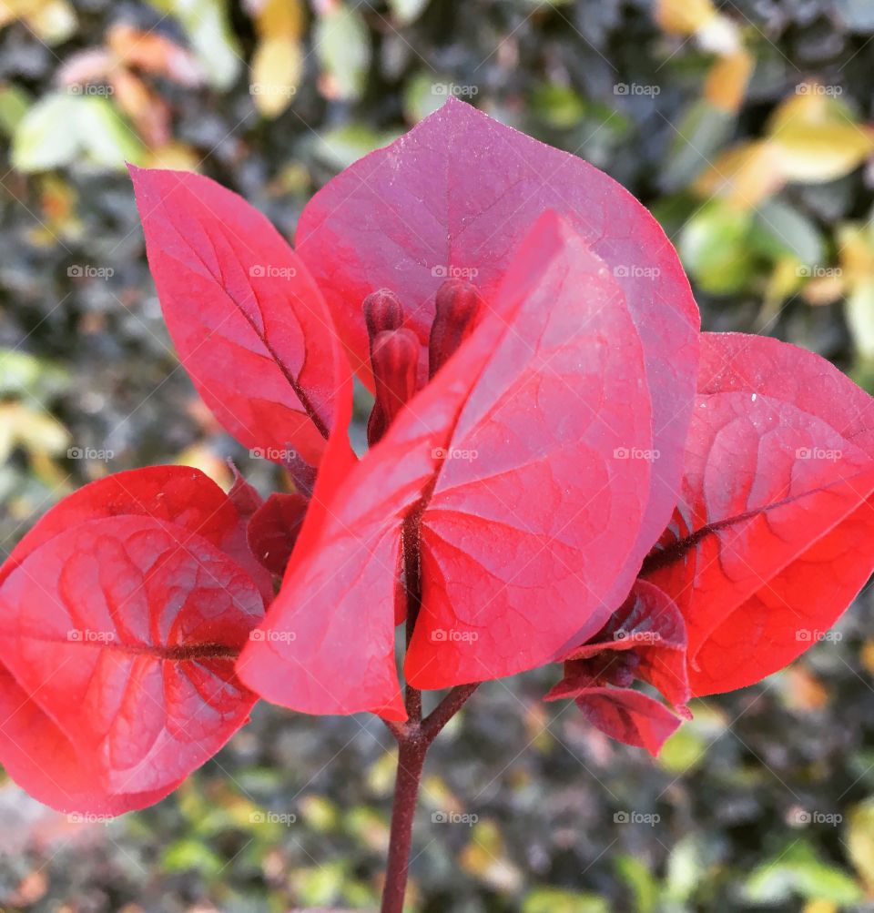
POLYGON ((27 555, 59 533, 86 520, 121 516, 166 520, 202 536, 237 561, 258 583, 265 599, 272 598, 269 574, 248 547, 245 518, 211 478, 199 469, 182 466, 119 472, 68 495, 17 544, 0 567, 0 583, 27 555))

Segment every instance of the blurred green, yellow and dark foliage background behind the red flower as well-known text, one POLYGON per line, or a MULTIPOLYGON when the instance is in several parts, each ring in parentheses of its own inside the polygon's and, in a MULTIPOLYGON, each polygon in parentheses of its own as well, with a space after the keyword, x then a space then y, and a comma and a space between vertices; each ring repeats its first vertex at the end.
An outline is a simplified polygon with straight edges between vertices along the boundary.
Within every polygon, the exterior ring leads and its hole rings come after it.
MULTIPOLYGON (((226 482, 234 456, 279 484, 175 362, 122 160, 198 168, 290 236, 332 173, 448 94, 652 207, 707 328, 795 341, 869 385, 872 9, 0 3, 2 548, 111 471, 226 482)), ((428 763, 410 910, 874 909, 871 614, 863 593, 791 669, 699 702, 658 762, 544 705, 546 674, 483 687, 428 763)), ((0 905, 373 908, 393 765, 374 719, 260 706, 182 789, 110 824, 0 780, 0 905)))

